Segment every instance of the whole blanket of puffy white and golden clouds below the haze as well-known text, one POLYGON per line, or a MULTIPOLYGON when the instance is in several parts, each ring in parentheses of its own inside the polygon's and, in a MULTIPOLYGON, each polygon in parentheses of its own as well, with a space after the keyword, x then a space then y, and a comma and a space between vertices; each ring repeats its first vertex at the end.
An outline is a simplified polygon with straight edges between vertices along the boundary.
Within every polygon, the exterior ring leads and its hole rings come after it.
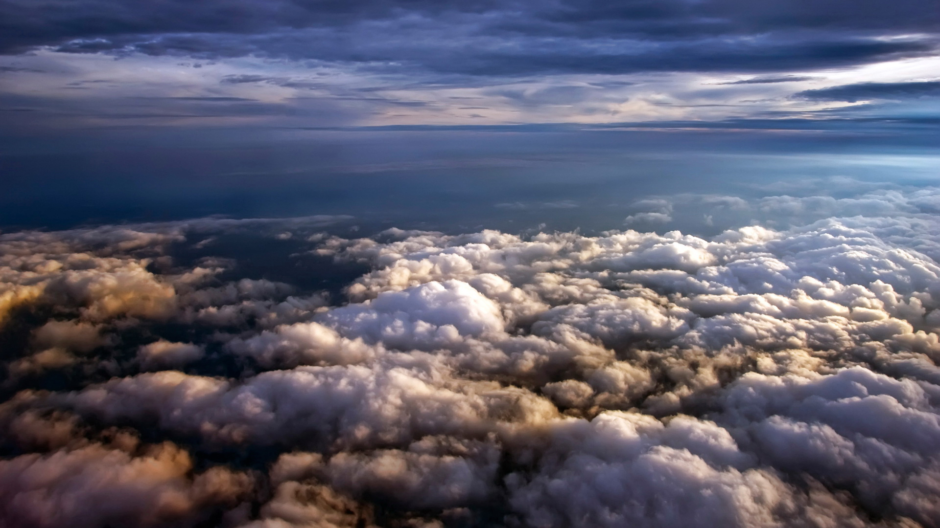
POLYGON ((940 526, 940 190, 697 199, 2 234, 0 524, 940 526))

